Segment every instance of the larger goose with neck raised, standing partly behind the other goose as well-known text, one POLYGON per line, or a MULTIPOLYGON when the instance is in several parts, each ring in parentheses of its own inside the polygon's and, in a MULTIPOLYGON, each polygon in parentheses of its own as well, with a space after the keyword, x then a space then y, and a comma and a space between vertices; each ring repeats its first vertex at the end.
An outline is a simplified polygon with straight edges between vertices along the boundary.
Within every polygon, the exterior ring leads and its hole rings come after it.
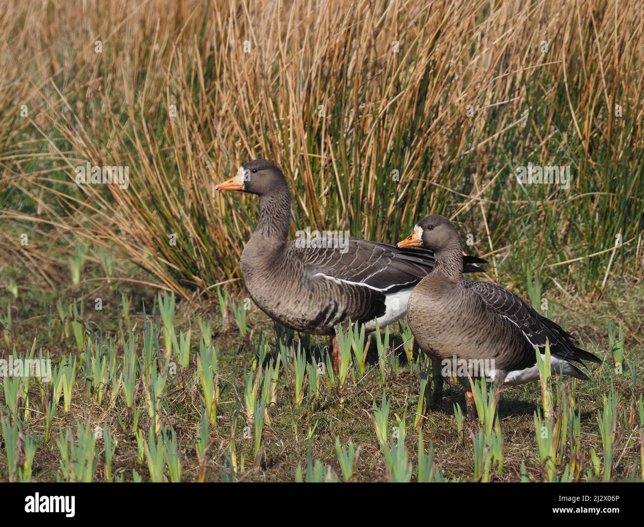
MULTIPOLYGON (((332 246, 288 241, 289 185, 270 161, 245 163, 215 188, 260 196, 260 220, 240 259, 246 289, 279 324, 332 337, 336 371, 338 326, 357 322, 374 331, 376 324, 392 324, 405 315, 413 287, 433 268, 433 254, 426 250, 353 238, 326 244, 332 246)), ((463 262, 463 271, 477 272, 481 269, 474 264, 484 260, 465 257, 463 262)))

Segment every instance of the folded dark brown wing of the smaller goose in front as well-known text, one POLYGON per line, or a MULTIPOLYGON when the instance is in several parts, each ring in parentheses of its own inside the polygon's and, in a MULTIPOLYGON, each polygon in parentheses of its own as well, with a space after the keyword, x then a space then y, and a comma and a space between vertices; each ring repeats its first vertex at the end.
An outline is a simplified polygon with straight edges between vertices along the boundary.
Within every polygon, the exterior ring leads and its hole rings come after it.
POLYGON ((580 364, 583 364, 582 359, 601 363, 592 353, 577 347, 570 333, 553 320, 537 313, 532 306, 507 289, 478 281, 464 281, 464 286, 475 290, 495 315, 504 317, 520 329, 524 335, 524 367, 535 364, 535 346, 541 353, 545 353, 546 340, 550 343, 550 353, 553 356, 580 364))

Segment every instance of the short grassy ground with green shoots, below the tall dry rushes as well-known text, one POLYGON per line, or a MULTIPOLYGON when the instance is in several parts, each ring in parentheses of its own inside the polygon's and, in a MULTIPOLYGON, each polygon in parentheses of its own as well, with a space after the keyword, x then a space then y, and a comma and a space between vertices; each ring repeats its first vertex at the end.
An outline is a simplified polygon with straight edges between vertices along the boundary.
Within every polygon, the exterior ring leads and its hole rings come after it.
MULTIPOLYGON (((590 382, 551 379, 551 420, 538 383, 502 389, 497 402, 477 382, 483 418, 471 423, 462 418, 458 386, 448 385, 439 407, 422 410, 420 380, 428 367, 417 352, 406 364, 395 329, 387 355, 396 355, 401 367, 388 361, 383 384, 373 349, 365 374, 354 359, 341 384, 323 367, 323 342, 303 347, 307 339, 295 335, 280 344, 272 322, 254 306, 249 343, 238 328, 208 318, 220 313, 218 306, 177 302, 171 331, 194 334, 182 367, 186 351, 173 346, 167 355, 164 349, 163 300, 155 295, 146 304, 156 308, 133 306, 131 324, 116 309, 79 314, 90 328, 85 349, 71 332, 65 335, 60 319, 49 347, 50 336, 36 331, 40 317, 28 315, 46 299, 30 291, 16 300, 12 348, 23 358, 50 356, 54 373, 49 382, 3 380, 0 477, 12 481, 296 481, 298 474, 306 481, 641 479, 644 355, 625 337, 625 368, 616 373, 609 335, 595 320, 610 320, 607 302, 596 300, 583 313, 560 311, 553 302, 555 319, 573 328, 603 364, 591 367, 590 382), (256 338, 267 349, 261 362, 252 353, 256 338), (417 407, 418 429, 410 418, 417 407), (19 433, 26 442, 17 441, 19 433)), ((115 299, 111 306, 117 305, 115 299)), ((634 325, 644 297, 618 305, 630 313, 623 322, 634 325)))

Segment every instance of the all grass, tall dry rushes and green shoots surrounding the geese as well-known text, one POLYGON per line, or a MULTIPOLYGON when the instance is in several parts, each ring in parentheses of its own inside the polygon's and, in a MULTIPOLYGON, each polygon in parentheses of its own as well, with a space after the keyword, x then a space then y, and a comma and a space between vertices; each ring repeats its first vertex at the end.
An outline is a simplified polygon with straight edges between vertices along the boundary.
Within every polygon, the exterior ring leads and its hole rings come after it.
POLYGON ((0 479, 642 479, 641 3, 4 7, 0 358, 53 368, 2 379, 0 479), (243 291, 258 201, 214 184, 258 157, 293 230, 393 243, 449 216, 483 279, 603 364, 479 386, 475 423, 460 387, 432 407, 404 321, 347 328, 336 376, 243 291), (86 163, 128 187, 77 185, 86 163))

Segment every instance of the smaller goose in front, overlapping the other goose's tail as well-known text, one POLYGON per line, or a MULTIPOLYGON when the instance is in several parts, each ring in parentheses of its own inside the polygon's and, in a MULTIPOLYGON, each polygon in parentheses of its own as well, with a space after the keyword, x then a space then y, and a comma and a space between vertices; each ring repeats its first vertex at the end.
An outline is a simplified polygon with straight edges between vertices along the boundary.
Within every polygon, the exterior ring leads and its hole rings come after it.
POLYGON ((570 333, 507 289, 463 279, 459 233, 446 217, 424 217, 397 246, 433 252, 434 268, 413 289, 407 317, 421 350, 442 362, 464 385, 469 419, 474 405, 468 374, 484 376, 496 385, 538 380, 535 347, 543 355, 546 342, 553 373, 588 380, 573 362, 601 364, 592 353, 576 347, 570 333))

